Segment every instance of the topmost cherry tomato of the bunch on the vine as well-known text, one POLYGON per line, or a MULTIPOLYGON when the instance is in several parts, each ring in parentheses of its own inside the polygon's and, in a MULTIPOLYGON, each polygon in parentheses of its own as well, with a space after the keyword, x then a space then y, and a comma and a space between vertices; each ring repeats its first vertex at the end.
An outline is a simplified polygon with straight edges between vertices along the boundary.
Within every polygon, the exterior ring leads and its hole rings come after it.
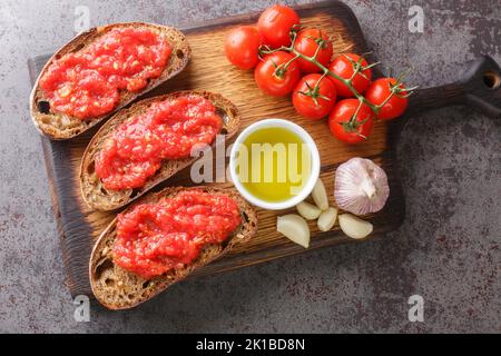
POLYGON ((272 48, 291 44, 288 32, 295 24, 299 24, 296 11, 282 4, 267 8, 257 20, 257 28, 265 43, 272 48))

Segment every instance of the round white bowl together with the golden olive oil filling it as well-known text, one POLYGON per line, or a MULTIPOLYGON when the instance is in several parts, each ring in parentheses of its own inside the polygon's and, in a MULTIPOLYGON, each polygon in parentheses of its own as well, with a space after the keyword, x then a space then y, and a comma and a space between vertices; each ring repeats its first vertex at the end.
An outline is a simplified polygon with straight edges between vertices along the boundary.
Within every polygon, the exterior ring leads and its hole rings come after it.
POLYGON ((308 184, 313 189, 318 170, 318 151, 310 135, 286 120, 269 119, 249 126, 232 150, 235 186, 261 207, 281 209, 301 196, 304 199, 311 192, 310 189, 305 195, 305 189, 308 184))

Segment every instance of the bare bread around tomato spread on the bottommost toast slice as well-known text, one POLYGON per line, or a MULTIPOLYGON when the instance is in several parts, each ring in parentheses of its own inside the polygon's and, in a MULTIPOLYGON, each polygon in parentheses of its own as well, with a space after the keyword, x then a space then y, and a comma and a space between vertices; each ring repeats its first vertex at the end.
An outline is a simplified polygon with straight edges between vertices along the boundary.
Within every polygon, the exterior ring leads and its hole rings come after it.
MULTIPOLYGON (((207 245, 190 265, 173 269, 153 279, 130 273, 114 264, 111 248, 116 238, 115 218, 97 240, 90 255, 89 277, 92 293, 97 300, 109 309, 128 309, 151 299, 170 285, 186 278, 194 270, 209 264, 228 253, 234 246, 250 239, 257 230, 257 215, 253 207, 233 189, 194 187, 203 191, 230 197, 238 205, 242 225, 223 244, 207 245)), ((137 204, 156 202, 164 197, 174 197, 184 187, 168 187, 141 198, 137 204)), ((129 211, 132 207, 129 207, 129 211)))

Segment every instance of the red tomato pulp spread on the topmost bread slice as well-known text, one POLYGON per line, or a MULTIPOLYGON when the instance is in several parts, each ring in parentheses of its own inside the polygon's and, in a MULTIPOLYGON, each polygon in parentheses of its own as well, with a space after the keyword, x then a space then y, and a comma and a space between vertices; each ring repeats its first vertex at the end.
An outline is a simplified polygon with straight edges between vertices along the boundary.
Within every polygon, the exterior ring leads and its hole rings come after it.
POLYGON ((149 29, 112 29, 86 49, 53 61, 40 78, 55 112, 86 120, 110 112, 119 90, 138 91, 158 78, 171 48, 149 29))

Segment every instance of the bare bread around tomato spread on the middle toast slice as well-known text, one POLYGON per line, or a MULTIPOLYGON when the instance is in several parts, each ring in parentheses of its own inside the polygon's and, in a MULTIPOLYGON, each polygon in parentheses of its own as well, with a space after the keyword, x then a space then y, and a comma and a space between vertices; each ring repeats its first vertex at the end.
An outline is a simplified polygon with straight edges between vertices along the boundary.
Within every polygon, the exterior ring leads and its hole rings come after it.
POLYGON ((105 140, 109 137, 109 135, 111 135, 117 126, 126 121, 128 118, 145 112, 145 110, 156 101, 163 101, 168 98, 176 98, 185 95, 202 96, 213 102, 216 107, 217 113, 223 119, 223 128, 219 134, 225 136, 225 140, 229 139, 235 135, 235 132, 237 132, 240 122, 238 109, 222 95, 208 91, 177 91, 138 101, 130 108, 118 111, 99 129, 84 152, 80 166, 80 187, 84 200, 89 207, 98 210, 118 209, 140 197, 143 194, 167 178, 174 176, 177 171, 191 165, 197 159, 196 157, 187 157, 176 160, 164 160, 160 169, 158 169, 158 171, 146 181, 146 185, 143 188, 137 189, 108 190, 104 187, 95 170, 96 155, 99 152, 105 140))

